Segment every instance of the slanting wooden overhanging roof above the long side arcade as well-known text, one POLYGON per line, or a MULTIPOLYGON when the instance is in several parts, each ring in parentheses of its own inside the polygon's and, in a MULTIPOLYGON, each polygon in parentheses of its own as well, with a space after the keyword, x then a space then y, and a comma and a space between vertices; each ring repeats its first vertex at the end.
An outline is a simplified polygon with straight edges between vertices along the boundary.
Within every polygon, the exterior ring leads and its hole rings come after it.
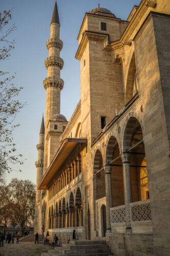
POLYGON ((47 189, 48 183, 52 180, 54 175, 60 169, 60 167, 64 164, 69 155, 75 150, 78 144, 87 143, 86 138, 67 138, 65 139, 59 150, 57 151, 53 161, 50 166, 47 168, 38 189, 47 189))

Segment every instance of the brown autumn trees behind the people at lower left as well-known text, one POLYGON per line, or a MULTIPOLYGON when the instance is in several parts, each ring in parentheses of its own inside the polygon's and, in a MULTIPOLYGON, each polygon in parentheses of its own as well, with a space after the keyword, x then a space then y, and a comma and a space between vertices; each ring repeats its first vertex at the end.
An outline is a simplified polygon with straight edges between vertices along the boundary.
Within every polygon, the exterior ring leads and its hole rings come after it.
POLYGON ((0 186, 0 221, 7 226, 17 223, 21 234, 25 226, 34 221, 36 186, 30 180, 12 179, 0 186))

